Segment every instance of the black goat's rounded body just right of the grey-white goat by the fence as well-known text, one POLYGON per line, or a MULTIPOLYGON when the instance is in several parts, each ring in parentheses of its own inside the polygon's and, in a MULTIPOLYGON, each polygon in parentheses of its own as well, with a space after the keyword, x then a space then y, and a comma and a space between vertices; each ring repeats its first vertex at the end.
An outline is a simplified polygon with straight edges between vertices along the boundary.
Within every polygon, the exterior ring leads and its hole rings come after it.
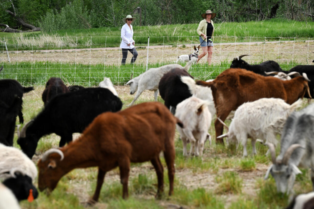
POLYGON ((182 83, 181 76, 193 78, 185 69, 174 68, 163 75, 158 85, 160 96, 165 100, 165 106, 168 109, 170 106, 174 108, 173 114, 177 104, 192 96, 187 84, 182 83))

